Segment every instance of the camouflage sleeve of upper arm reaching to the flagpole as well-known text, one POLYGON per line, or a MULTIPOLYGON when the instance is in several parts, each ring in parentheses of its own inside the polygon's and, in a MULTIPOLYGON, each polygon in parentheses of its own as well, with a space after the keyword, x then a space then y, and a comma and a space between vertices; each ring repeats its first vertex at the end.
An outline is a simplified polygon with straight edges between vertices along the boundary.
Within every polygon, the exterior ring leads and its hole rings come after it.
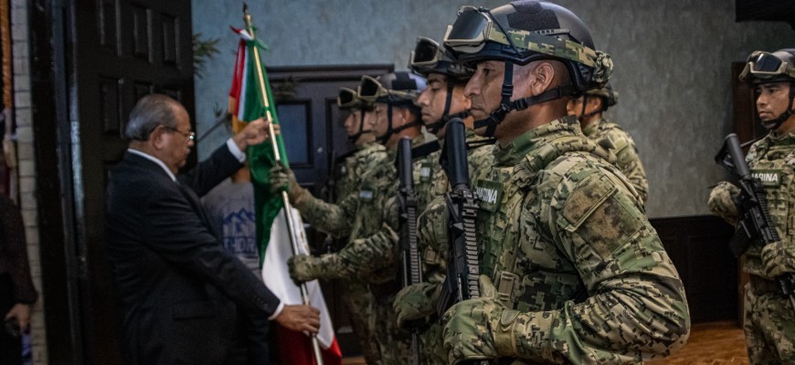
POLYGON ((307 193, 305 198, 295 202, 293 206, 315 228, 334 237, 345 237, 351 235, 358 202, 357 193, 348 194, 337 204, 323 202, 307 193))

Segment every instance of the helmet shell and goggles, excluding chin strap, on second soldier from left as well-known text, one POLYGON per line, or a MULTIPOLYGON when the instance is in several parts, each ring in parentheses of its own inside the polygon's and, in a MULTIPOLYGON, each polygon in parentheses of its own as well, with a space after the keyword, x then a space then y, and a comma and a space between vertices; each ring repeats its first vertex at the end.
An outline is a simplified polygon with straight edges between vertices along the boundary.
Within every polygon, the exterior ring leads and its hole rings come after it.
POLYGON ((370 103, 416 105, 419 93, 425 87, 425 78, 406 71, 388 73, 378 78, 365 75, 359 84, 358 96, 370 103))

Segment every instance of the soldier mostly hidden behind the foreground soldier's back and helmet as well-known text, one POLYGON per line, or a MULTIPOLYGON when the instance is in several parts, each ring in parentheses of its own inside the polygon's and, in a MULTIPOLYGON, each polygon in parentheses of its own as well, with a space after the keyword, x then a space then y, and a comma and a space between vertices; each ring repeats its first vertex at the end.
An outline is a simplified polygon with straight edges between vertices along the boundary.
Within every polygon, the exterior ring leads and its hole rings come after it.
POLYGON ((597 142, 599 146, 609 149, 616 155, 619 170, 641 196, 641 203, 646 203, 649 196, 649 182, 646 180, 646 171, 643 170, 635 141, 632 141, 630 133, 603 116, 608 108, 618 102, 619 93, 608 84, 604 88, 588 90, 579 98, 569 100, 568 115, 577 116, 580 129, 591 141, 597 142))

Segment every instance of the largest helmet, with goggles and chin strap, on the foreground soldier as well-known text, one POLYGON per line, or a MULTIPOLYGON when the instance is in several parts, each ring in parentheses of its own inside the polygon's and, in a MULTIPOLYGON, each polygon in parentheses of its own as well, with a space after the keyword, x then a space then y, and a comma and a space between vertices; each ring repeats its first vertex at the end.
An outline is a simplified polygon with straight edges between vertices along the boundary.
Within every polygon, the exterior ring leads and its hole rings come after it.
POLYGON ((600 88, 612 73, 610 56, 595 50, 588 27, 578 16, 563 6, 536 0, 514 1, 493 11, 462 6, 455 23, 448 26, 444 47, 465 65, 505 61, 501 105, 487 120, 475 121, 475 128, 488 126, 489 135, 509 111, 600 88), (542 59, 566 65, 571 84, 511 100, 513 64, 542 59))

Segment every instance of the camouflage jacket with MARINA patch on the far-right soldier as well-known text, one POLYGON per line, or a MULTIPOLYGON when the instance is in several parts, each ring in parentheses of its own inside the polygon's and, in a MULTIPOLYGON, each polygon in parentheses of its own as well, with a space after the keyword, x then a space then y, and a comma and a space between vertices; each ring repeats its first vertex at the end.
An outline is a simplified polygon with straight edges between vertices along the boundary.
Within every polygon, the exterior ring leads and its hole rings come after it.
MULTIPOLYGON (((768 198, 768 212, 782 240, 795 242, 795 131, 783 136, 768 133, 754 143, 746 156, 751 175, 762 183, 768 198)), ((765 276, 762 268, 760 241, 746 251, 744 270, 754 276, 765 276)))

